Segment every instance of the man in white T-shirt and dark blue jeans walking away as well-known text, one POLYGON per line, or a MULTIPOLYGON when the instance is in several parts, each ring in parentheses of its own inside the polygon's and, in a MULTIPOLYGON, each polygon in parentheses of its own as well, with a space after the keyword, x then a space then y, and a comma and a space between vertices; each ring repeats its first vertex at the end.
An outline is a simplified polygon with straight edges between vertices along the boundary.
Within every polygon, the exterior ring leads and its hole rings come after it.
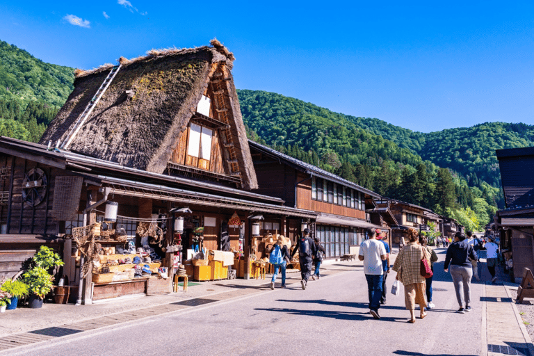
POLYGON ((382 298, 382 275, 384 273, 382 261, 386 260, 387 253, 382 241, 376 239, 375 229, 367 229, 367 236, 369 240, 362 242, 359 246, 358 258, 364 261, 364 273, 369 292, 369 312, 373 318, 380 319, 378 308, 380 308, 380 298, 382 298))

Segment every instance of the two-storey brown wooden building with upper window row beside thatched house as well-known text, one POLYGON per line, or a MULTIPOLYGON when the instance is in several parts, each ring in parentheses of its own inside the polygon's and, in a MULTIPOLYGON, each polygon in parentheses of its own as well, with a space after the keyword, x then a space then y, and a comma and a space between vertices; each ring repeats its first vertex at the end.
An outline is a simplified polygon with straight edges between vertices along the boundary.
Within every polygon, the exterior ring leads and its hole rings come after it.
POLYGON ((364 229, 379 228, 366 216, 377 193, 314 165, 249 140, 258 188, 254 191, 284 200, 287 207, 316 213, 315 221, 289 219, 282 232, 296 241, 302 226, 320 238, 326 257, 352 254, 365 238, 364 229))

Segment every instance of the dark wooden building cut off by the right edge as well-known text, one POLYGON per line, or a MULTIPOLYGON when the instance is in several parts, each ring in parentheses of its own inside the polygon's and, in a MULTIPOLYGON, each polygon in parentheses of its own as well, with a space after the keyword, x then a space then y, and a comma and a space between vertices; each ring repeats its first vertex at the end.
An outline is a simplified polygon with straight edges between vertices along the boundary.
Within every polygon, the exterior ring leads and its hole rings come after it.
POLYGON ((534 147, 497 149, 505 209, 495 214, 501 251, 513 259, 514 277, 534 269, 534 147))

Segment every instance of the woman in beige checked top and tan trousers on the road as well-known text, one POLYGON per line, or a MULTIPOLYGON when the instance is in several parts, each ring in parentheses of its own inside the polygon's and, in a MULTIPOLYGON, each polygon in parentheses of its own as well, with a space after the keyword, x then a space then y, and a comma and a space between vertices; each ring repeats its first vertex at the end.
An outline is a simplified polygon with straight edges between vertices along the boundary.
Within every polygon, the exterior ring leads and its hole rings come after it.
POLYGON ((419 304, 422 318, 426 316, 426 281, 421 276, 421 259, 428 258, 423 246, 419 244, 417 231, 408 229, 408 243, 399 252, 393 265, 393 270, 397 273, 396 279, 404 286, 404 301, 406 309, 410 310, 410 320, 408 323, 415 323, 415 305, 419 304))

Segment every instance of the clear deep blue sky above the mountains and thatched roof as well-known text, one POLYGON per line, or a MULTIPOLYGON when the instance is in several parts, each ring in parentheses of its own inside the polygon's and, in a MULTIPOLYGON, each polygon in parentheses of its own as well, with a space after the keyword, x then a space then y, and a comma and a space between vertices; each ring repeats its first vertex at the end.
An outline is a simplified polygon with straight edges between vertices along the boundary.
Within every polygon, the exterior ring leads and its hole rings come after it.
POLYGON ((414 131, 534 124, 532 1, 6 1, 0 40, 90 69, 218 38, 240 89, 414 131))

